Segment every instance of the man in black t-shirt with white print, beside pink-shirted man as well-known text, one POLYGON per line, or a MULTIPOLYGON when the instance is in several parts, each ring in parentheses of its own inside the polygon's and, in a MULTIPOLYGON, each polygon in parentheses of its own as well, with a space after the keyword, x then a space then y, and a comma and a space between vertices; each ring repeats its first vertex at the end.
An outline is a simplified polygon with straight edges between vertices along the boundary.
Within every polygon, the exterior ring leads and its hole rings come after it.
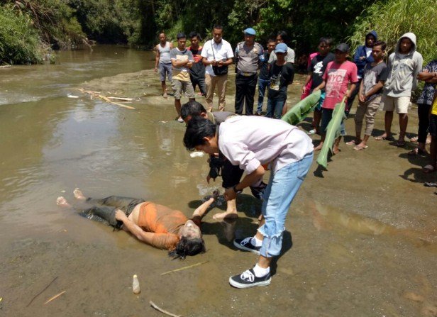
MULTIPOLYGON (((319 40, 319 53, 313 57, 308 67, 308 75, 306 76, 304 86, 302 87, 302 94, 304 94, 304 90, 306 85, 311 80, 311 89, 310 94, 313 92, 313 89, 318 87, 321 82, 323 82, 323 73, 325 72, 326 66, 328 62, 332 62, 334 60, 335 55, 333 55, 331 50, 331 38, 321 38, 319 40)), ((309 131, 309 135, 313 135, 315 133, 319 133, 319 123, 321 120, 321 104, 323 104, 323 100, 325 99, 325 91, 324 89, 321 91, 321 96, 319 99, 319 104, 314 109, 313 116, 313 127, 314 129, 309 131)))

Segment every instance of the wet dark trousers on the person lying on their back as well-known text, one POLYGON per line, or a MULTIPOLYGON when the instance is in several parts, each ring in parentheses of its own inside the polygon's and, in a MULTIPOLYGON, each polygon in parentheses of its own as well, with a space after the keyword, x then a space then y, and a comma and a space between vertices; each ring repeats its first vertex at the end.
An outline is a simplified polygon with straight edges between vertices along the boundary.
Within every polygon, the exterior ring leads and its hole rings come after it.
POLYGON ((103 219, 114 228, 121 228, 123 224, 121 221, 116 220, 117 209, 121 209, 126 213, 126 216, 129 216, 136 205, 145 202, 144 199, 122 196, 109 196, 104 199, 87 198, 86 201, 88 204, 96 204, 96 206, 81 211, 81 216, 86 218, 94 218, 94 216, 96 216, 98 217, 96 220, 99 221, 103 219))

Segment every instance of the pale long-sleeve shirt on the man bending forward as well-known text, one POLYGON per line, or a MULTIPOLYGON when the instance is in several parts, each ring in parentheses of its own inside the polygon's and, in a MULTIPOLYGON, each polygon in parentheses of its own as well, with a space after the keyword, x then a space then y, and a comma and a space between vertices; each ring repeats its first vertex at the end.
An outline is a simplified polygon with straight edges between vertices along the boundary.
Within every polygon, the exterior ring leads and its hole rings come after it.
POLYGON ((251 174, 270 163, 273 172, 313 152, 311 138, 281 120, 234 116, 221 123, 219 150, 233 165, 251 174))

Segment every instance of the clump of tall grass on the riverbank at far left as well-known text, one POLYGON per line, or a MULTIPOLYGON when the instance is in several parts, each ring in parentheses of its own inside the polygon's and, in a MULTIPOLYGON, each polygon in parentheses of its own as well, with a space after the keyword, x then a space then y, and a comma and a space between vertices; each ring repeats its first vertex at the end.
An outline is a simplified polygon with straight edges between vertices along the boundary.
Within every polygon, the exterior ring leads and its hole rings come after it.
POLYGON ((43 60, 43 43, 30 16, 16 14, 13 6, 0 6, 0 60, 29 64, 43 60))

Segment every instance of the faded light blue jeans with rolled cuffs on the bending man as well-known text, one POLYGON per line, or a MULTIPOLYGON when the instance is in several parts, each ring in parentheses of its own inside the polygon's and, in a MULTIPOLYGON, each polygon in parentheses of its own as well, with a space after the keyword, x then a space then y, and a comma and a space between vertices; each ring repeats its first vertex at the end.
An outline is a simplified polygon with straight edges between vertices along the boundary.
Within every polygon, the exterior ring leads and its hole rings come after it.
POLYGON ((265 218, 265 223, 258 228, 264 236, 260 250, 263 257, 280 255, 285 217, 312 162, 313 153, 270 174, 262 202, 262 216, 265 218))

